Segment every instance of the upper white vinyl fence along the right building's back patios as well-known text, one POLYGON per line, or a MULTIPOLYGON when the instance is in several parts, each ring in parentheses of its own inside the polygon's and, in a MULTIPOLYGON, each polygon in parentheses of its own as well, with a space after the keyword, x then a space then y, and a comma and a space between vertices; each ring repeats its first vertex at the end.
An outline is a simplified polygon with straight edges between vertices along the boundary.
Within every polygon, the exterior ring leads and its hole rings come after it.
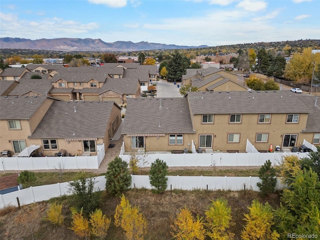
MULTIPOLYGON (((278 165, 284 156, 296 155, 299 158, 307 156, 307 152, 254 152, 254 153, 170 153, 136 155, 140 167, 150 166, 159 158, 168 166, 261 166, 266 160, 278 165)), ((119 155, 122 160, 129 162, 130 155, 119 155)))

